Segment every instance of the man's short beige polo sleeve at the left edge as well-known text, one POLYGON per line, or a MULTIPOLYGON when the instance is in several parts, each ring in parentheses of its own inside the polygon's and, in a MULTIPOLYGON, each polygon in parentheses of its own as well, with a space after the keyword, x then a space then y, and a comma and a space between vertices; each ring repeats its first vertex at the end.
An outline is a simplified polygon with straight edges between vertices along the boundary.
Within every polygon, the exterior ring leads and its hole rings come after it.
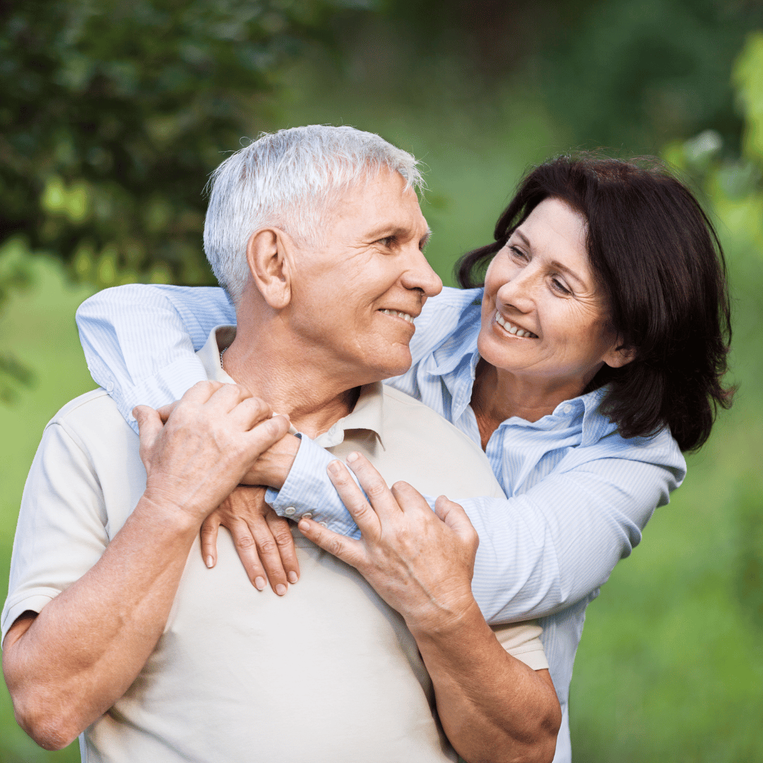
POLYGON ((79 580, 108 545, 98 476, 89 457, 51 423, 24 487, 13 545, 2 639, 25 612, 39 613, 79 580))

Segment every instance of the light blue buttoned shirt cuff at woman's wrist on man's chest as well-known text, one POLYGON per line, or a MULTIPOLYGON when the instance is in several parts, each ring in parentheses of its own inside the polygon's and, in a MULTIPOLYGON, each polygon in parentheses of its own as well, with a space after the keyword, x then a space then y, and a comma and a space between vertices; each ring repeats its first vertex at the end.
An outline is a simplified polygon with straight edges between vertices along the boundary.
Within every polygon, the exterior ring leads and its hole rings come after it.
MULTIPOLYGON (((281 517, 297 521, 310 514, 316 522, 334 533, 359 538, 358 526, 326 472, 326 467, 336 460, 336 456, 309 437, 299 437, 301 442, 291 470, 280 490, 268 488, 266 503, 281 517)), ((357 483, 355 475, 353 479, 357 483)))

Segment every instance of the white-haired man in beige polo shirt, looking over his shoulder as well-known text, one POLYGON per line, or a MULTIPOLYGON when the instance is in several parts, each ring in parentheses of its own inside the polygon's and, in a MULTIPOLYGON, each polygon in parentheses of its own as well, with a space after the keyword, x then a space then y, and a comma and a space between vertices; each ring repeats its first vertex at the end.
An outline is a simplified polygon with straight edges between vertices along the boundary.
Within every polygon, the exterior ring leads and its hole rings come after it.
POLYGON ((285 436, 272 411, 387 481, 499 494, 478 446, 378 383, 407 369, 410 319, 440 288, 416 180, 413 157, 350 128, 285 130, 231 156, 204 241, 238 326, 199 351, 209 381, 165 427, 136 409, 140 442, 102 390, 47 427, 2 614, 16 715, 44 747, 82 734, 88 761, 552 758, 539 629, 482 619, 455 504, 417 514, 417 555, 448 569, 423 597, 377 584, 385 603, 300 537, 286 597, 251 586, 230 539, 213 569, 198 553, 204 518, 285 436))

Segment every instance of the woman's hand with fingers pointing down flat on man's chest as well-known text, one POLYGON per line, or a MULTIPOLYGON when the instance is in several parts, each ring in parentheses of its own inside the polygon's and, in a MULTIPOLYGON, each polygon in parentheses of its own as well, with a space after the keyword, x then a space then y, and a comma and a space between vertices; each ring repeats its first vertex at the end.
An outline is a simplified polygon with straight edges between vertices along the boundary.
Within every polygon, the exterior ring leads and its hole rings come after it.
POLYGON ((239 559, 258 591, 270 587, 283 596, 299 580, 299 562, 288 520, 265 503, 265 488, 239 485, 201 525, 201 558, 217 563, 217 528, 227 527, 239 559))

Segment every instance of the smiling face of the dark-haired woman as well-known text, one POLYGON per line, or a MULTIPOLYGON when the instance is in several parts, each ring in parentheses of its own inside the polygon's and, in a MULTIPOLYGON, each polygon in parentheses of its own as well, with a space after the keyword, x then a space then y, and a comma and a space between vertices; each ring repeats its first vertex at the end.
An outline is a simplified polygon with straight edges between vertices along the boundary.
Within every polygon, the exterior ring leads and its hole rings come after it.
POLYGON ((480 355, 539 389, 581 394, 601 365, 624 365, 585 250, 586 222, 549 198, 517 227, 485 276, 480 355))

